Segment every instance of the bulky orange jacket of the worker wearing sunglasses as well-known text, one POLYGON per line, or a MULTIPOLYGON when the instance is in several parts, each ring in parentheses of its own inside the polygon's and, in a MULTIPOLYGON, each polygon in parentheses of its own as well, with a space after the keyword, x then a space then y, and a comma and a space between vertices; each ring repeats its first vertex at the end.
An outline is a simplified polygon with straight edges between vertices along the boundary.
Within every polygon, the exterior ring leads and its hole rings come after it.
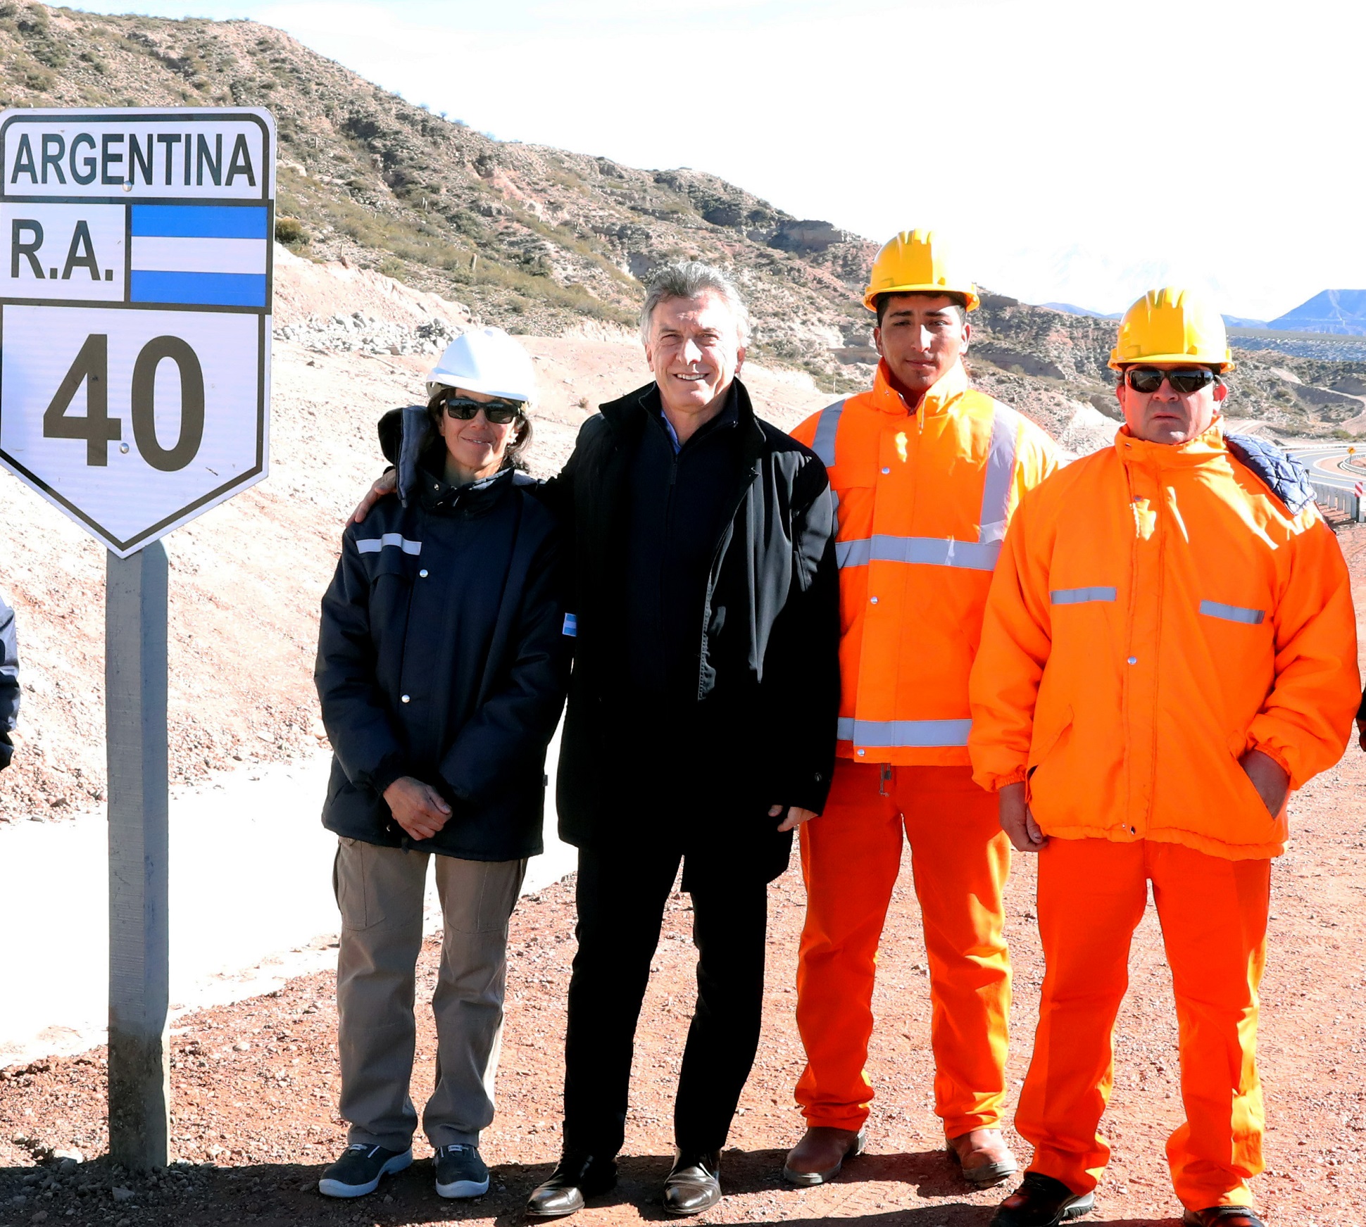
POLYGON ((1221 424, 1063 469, 1015 515, 973 670, 974 779, 1027 779, 1045 835, 1284 851, 1239 758, 1292 788, 1343 753, 1359 701, 1347 564, 1235 459, 1221 424))

